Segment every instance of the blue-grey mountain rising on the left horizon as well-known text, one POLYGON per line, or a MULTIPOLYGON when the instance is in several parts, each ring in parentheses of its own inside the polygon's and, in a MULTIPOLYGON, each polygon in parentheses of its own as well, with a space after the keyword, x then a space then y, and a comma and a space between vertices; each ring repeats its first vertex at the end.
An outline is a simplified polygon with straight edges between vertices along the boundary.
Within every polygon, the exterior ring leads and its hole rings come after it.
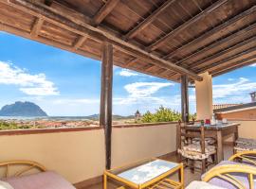
POLYGON ((32 102, 15 102, 4 106, 0 111, 0 116, 43 117, 47 114, 32 102))

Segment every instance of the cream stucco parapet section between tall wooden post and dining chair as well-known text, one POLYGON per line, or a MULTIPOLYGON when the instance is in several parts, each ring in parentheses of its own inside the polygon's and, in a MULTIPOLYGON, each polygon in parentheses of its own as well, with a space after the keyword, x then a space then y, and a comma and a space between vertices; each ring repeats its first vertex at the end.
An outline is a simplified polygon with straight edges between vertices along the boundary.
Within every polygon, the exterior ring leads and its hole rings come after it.
POLYGON ((175 124, 113 130, 112 163, 119 166, 175 151, 175 124))

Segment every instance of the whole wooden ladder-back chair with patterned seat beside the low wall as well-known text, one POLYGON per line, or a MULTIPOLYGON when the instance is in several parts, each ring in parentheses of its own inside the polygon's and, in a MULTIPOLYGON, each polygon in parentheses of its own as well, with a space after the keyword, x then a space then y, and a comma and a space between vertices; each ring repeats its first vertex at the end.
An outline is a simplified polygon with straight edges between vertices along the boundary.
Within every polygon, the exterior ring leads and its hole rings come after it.
POLYGON ((205 143, 205 127, 185 126, 179 122, 177 125, 177 151, 178 161, 184 162, 185 166, 189 166, 194 172, 196 162, 201 162, 200 167, 202 173, 205 173, 208 166, 216 163, 216 147, 206 145, 205 143), (193 138, 200 138, 200 144, 192 144, 193 138), (209 159, 211 158, 211 162, 209 159))

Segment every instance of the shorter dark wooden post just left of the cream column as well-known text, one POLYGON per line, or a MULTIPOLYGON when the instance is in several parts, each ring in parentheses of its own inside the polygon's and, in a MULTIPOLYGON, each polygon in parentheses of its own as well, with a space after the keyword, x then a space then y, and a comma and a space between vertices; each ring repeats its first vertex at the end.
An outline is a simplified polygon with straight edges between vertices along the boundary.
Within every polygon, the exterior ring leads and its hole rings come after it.
POLYGON ((189 122, 188 77, 185 75, 181 76, 181 116, 183 122, 189 122))

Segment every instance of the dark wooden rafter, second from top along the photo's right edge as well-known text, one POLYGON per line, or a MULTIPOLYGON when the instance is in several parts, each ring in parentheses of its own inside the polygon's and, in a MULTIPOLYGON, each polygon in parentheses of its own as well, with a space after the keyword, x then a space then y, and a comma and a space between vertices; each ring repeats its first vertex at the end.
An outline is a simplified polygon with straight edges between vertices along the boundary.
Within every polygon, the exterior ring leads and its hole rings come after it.
POLYGON ((177 65, 182 65, 186 60, 191 60, 192 58, 194 58, 194 57, 196 57, 196 56, 198 56, 198 55, 200 55, 200 54, 203 54, 203 53, 209 51, 209 50, 212 49, 212 48, 215 48, 215 47, 217 47, 217 46, 220 46, 220 45, 222 45, 222 44, 224 44, 224 43, 229 43, 230 41, 233 41, 233 40, 235 40, 236 38, 239 38, 239 37, 241 37, 241 36, 246 35, 248 32, 251 32, 251 31, 252 31, 253 29, 255 29, 255 28, 256 28, 256 23, 253 24, 253 25, 251 25, 251 26, 247 26, 246 28, 237 31, 237 32, 234 33, 234 34, 229 35, 229 37, 227 37, 227 38, 224 38, 224 39, 222 39, 222 40, 220 40, 220 41, 217 41, 217 42, 215 42, 215 43, 210 43, 210 45, 206 46, 205 48, 202 48, 201 50, 198 50, 198 51, 196 51, 195 53, 192 53, 190 56, 188 56, 188 57, 186 57, 186 58, 184 58, 184 59, 182 59, 182 60, 177 61, 176 64, 177 64, 177 65))

